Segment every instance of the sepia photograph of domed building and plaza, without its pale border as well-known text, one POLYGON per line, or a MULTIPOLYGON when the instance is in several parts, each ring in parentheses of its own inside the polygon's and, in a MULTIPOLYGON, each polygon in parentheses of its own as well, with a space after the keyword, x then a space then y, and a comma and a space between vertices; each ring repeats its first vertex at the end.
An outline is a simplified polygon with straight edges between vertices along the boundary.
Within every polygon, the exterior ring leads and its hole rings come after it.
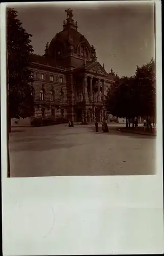
POLYGON ((7 5, 8 177, 155 174, 155 47, 153 1, 7 5))

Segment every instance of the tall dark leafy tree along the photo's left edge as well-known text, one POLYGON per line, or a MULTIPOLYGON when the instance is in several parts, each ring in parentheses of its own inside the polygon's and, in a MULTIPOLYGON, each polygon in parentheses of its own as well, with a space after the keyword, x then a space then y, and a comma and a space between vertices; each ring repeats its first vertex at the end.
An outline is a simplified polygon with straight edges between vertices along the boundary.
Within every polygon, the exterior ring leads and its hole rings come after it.
MULTIPOLYGON (((17 19, 17 11, 7 8, 7 74, 8 108, 11 118, 30 117, 33 112, 31 71, 28 69, 33 52, 30 37, 17 19)), ((9 124, 10 127, 10 124, 9 124)))

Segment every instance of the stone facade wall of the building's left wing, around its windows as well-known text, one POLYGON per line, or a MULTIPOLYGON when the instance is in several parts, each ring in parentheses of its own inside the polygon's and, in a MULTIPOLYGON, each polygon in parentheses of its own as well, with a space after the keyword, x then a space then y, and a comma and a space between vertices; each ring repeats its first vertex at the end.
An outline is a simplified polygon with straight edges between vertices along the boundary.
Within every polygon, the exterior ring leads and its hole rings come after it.
POLYGON ((61 116, 61 109, 64 110, 63 116, 67 117, 67 111, 65 105, 62 104, 67 103, 67 85, 66 85, 66 76, 61 72, 52 72, 47 71, 45 69, 36 69, 31 68, 31 71, 34 74, 34 100, 37 101, 35 103, 35 117, 42 116, 42 108, 45 109, 45 117, 51 116, 51 108, 54 109, 54 116, 60 117, 61 116), (41 74, 44 74, 44 79, 41 79, 41 74), (50 80, 50 76, 53 76, 53 81, 50 80), (62 82, 60 81, 62 78, 62 82), (44 91, 44 102, 42 102, 40 91, 44 91), (51 101, 51 91, 53 91, 53 101, 51 101), (60 94, 63 95, 63 102, 61 102, 61 108, 57 106, 57 102, 59 104, 60 101, 60 94), (49 105, 50 104, 50 105, 49 105))

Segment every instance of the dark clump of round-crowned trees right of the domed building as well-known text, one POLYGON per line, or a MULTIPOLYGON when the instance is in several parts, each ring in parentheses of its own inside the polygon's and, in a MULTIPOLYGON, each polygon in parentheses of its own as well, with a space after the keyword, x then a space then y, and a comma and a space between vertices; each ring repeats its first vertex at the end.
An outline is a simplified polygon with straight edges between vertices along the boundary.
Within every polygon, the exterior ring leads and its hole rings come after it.
POLYGON ((138 116, 153 116, 156 119, 155 61, 137 67, 135 76, 117 77, 106 96, 106 109, 117 117, 126 117, 126 126, 134 127, 138 116))

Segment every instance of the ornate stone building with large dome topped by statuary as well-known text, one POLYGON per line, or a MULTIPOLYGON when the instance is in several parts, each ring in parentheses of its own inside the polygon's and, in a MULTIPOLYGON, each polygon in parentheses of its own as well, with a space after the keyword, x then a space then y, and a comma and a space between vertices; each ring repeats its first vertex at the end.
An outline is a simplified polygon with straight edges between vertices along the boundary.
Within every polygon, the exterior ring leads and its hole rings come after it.
POLYGON ((65 12, 63 30, 46 44, 45 54, 31 55, 34 116, 76 122, 108 119, 104 96, 115 75, 97 61, 96 49, 77 31, 72 11, 65 12))

